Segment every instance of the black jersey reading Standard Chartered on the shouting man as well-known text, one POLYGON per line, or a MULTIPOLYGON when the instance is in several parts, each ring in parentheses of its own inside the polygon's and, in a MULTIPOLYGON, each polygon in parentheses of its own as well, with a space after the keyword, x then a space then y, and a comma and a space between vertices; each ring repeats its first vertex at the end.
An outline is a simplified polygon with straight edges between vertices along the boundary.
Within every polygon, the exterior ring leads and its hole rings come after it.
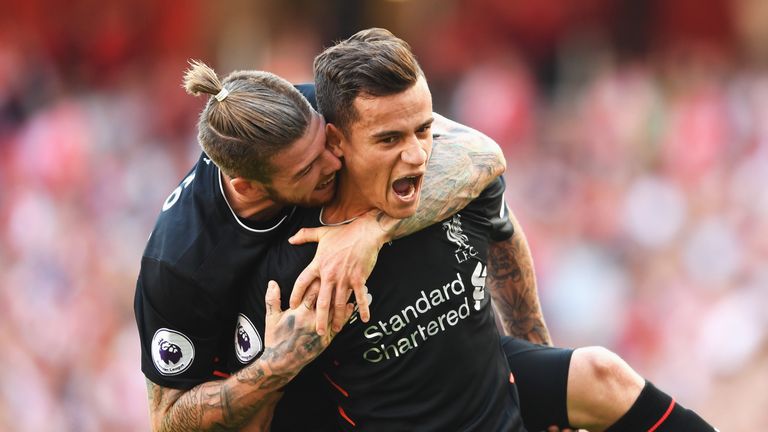
MULTIPOLYGON (((320 375, 305 379, 324 382, 337 429, 524 430, 485 289, 491 236, 512 234, 503 190, 496 181, 456 215, 382 248, 367 281, 370 321, 353 315, 299 374, 320 375)), ((319 226, 319 215, 298 209, 287 234, 319 226)), ((285 302, 314 251, 275 242, 257 270, 266 279, 246 293, 241 316, 263 329, 261 287, 278 281, 285 302)))

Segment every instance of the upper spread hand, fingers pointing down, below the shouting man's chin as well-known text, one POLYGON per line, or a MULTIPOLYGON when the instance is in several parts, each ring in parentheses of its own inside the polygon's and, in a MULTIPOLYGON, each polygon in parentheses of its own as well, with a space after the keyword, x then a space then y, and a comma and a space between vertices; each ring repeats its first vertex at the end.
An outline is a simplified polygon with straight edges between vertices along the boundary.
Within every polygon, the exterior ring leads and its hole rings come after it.
POLYGON ((288 239, 291 244, 317 242, 312 262, 301 272, 293 285, 290 305, 297 308, 307 288, 319 280, 317 295, 317 333, 325 334, 329 310, 333 303, 333 331, 344 323, 344 311, 351 293, 355 294, 360 319, 368 322, 367 289, 365 281, 373 271, 381 246, 389 240, 377 221, 378 210, 370 211, 350 224, 338 227, 302 228, 288 239))

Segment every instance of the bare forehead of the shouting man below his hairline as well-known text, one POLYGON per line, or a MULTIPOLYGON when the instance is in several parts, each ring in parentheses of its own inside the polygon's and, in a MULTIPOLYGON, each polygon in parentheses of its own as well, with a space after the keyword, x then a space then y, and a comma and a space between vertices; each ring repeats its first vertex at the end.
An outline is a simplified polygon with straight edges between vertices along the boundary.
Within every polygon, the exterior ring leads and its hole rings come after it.
POLYGON ((389 96, 359 95, 354 100, 358 119, 351 128, 370 133, 403 130, 422 124, 432 115, 432 94, 424 77, 409 89, 389 96))

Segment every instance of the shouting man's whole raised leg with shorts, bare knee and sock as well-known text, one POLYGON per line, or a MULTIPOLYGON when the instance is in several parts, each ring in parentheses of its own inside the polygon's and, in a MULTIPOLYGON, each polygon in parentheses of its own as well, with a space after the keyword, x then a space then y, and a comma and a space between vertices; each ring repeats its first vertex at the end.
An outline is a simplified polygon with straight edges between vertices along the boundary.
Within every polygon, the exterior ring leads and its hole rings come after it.
POLYGON ((506 336, 502 346, 531 432, 552 425, 594 432, 715 430, 605 348, 571 351, 506 336))

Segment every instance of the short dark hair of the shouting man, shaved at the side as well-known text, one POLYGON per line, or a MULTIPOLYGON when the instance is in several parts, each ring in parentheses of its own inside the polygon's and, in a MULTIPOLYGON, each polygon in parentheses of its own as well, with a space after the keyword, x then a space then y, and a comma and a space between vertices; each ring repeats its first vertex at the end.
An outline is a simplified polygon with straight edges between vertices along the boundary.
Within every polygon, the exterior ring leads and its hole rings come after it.
POLYGON ((317 103, 325 120, 342 131, 358 119, 359 95, 389 96, 424 76, 410 45, 388 30, 355 33, 315 57, 317 103))

